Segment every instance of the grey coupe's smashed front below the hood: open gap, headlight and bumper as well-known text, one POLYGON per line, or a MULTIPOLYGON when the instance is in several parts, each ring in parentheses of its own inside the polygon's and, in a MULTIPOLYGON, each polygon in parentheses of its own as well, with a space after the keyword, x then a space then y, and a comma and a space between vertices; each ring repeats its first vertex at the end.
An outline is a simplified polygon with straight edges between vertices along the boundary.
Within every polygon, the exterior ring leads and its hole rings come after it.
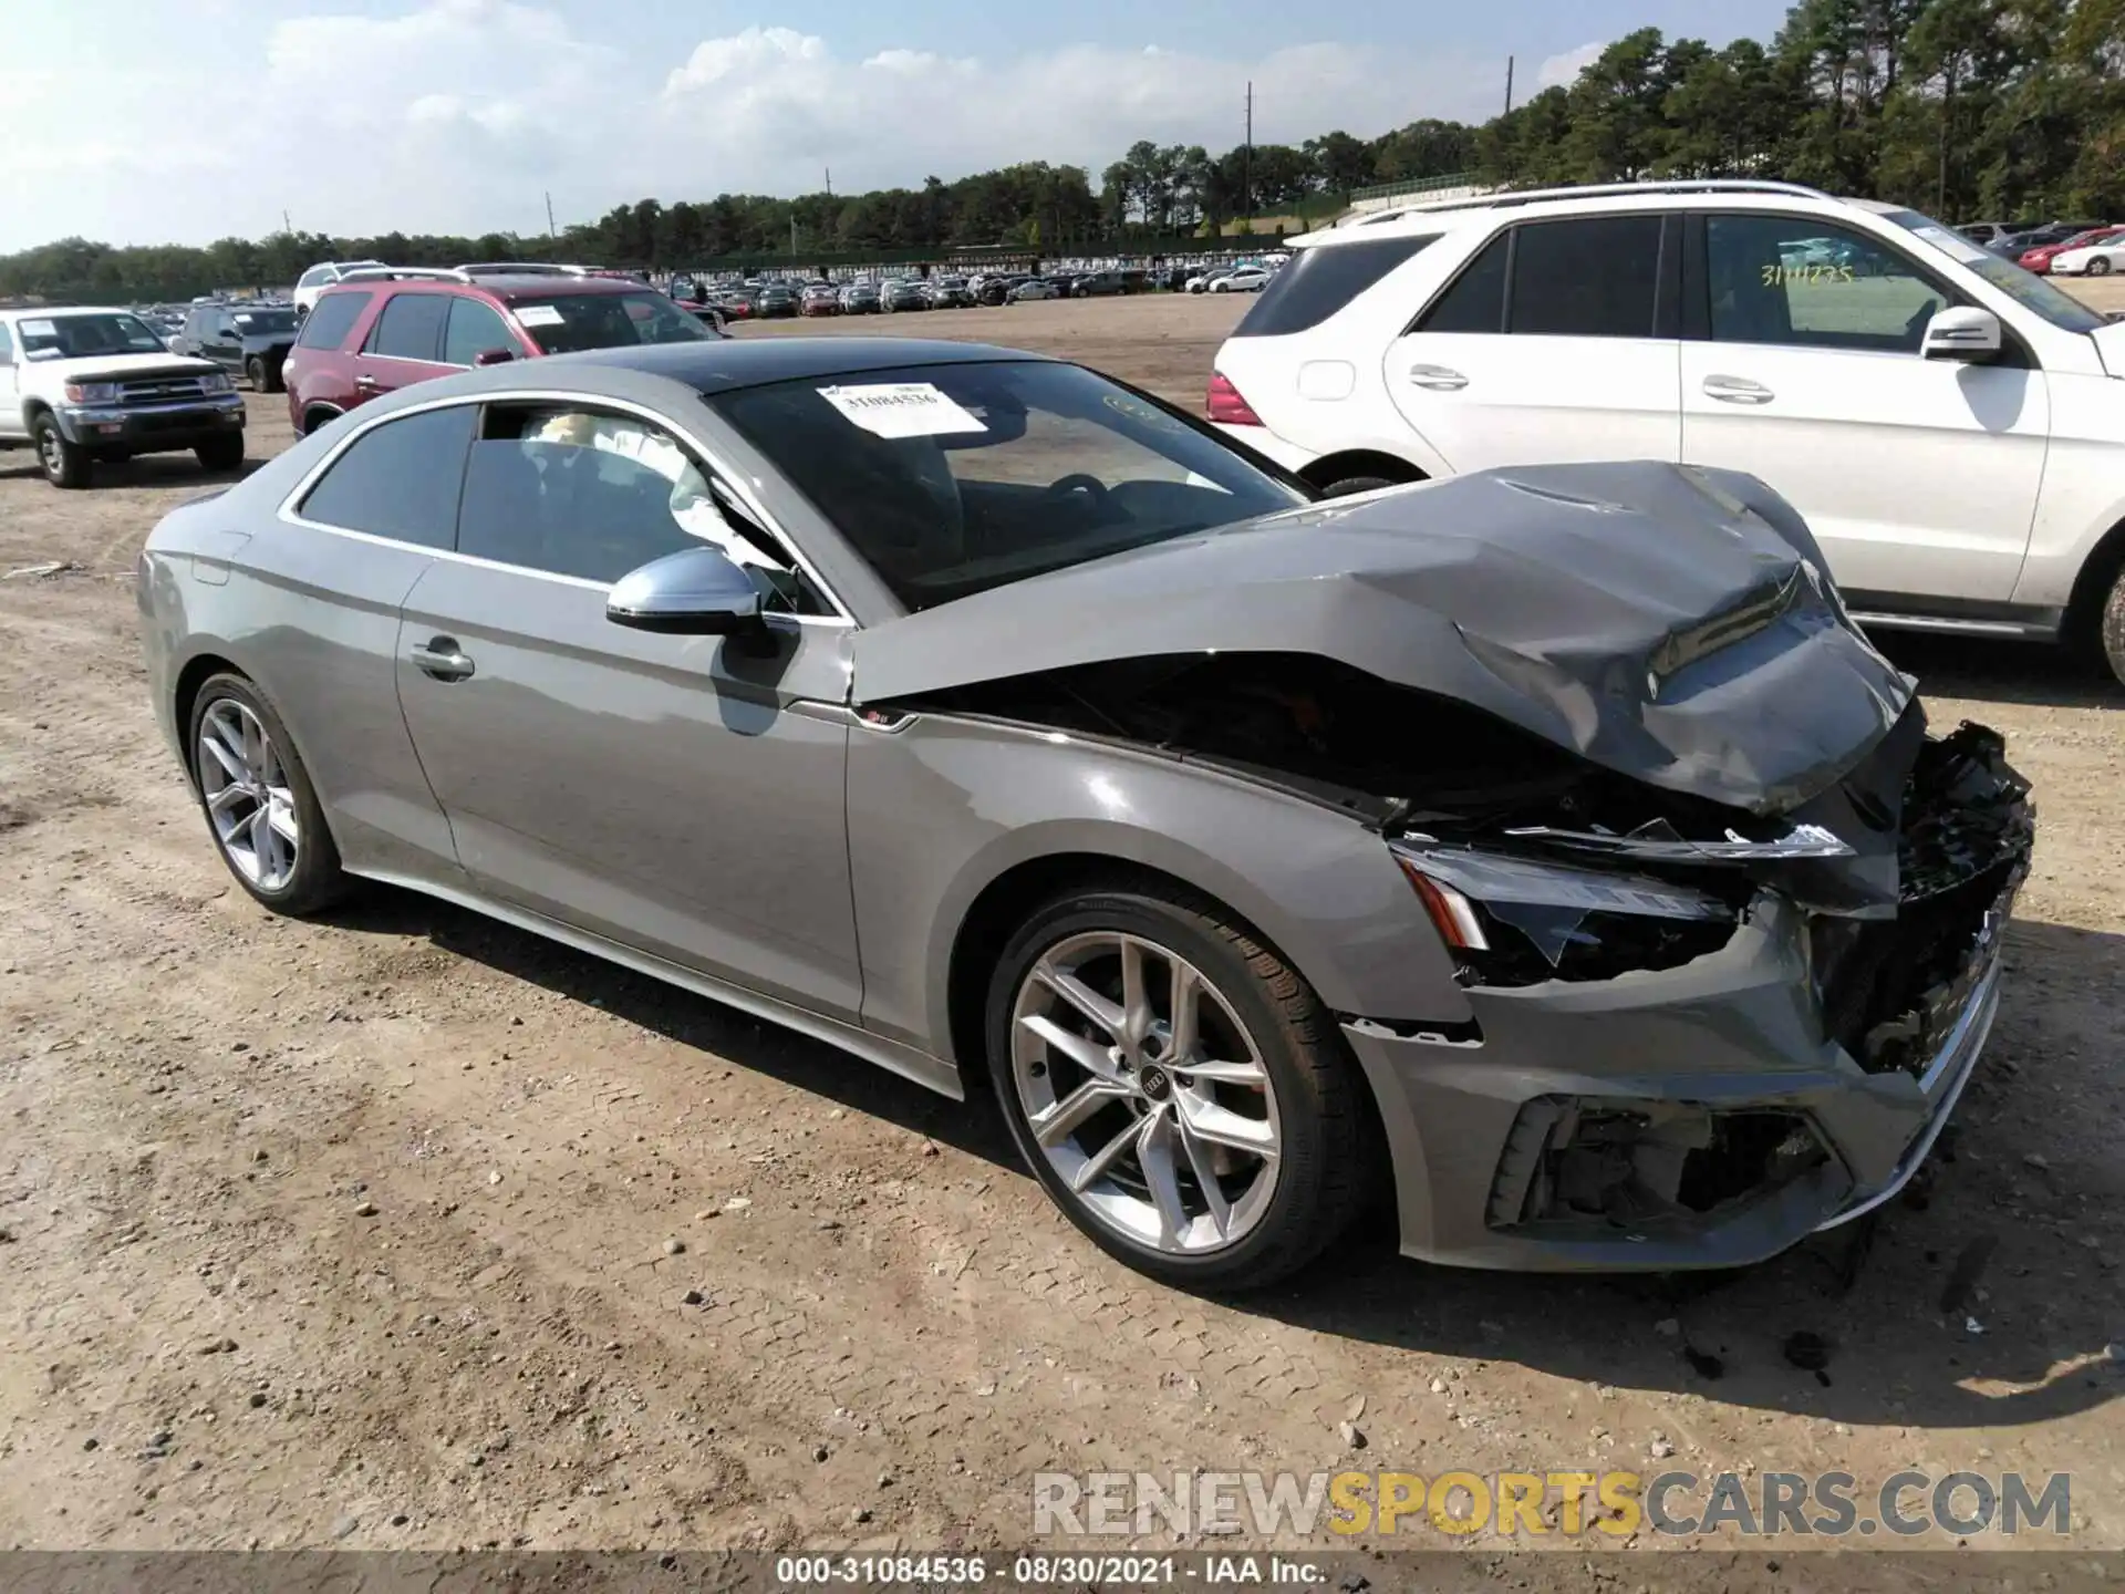
POLYGON ((1751 814, 1322 659, 1135 659, 910 708, 1271 782, 1377 829, 1470 1020, 1347 1016, 1413 1254, 1770 1256, 1893 1194, 1991 1018, 2027 782, 1912 699, 1832 786, 1751 814), (1409 1173, 1422 1169, 1422 1173, 1409 1173))

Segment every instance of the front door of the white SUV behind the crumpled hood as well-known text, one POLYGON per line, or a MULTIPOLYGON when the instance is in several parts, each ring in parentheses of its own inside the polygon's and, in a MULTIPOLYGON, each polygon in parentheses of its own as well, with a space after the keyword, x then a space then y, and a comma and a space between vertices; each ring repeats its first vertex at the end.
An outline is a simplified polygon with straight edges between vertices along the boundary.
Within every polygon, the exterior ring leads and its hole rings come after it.
POLYGON ((2004 604, 2051 438, 2036 357, 2010 334, 1995 363, 1923 359, 1961 300, 1857 227, 1715 210, 1685 255, 1683 459, 1791 499, 1855 608, 2004 604))

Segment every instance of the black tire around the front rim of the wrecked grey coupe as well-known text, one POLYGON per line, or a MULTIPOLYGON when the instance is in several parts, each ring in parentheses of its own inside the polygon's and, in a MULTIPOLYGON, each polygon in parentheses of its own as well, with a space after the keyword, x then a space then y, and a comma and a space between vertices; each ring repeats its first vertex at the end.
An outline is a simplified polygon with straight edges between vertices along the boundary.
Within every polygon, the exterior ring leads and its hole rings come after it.
MULTIPOLYGON (((1037 908, 1009 937, 990 976, 984 1037, 1005 1122, 1033 1175, 1101 1250, 1154 1279, 1184 1290, 1264 1288, 1332 1245, 1371 1194, 1375 1137, 1360 1095, 1364 1086, 1334 1016, 1254 931, 1184 888, 1162 882, 1080 886, 1037 908), (1107 1226, 1050 1165, 1028 1126, 1012 1061, 1018 988, 1052 948, 1101 931, 1154 942, 1192 963, 1245 1024, 1266 1067, 1279 1120, 1275 1184, 1254 1226, 1222 1250, 1160 1252, 1107 1226)), ((1169 1067, 1182 1073, 1186 1065, 1169 1067)))

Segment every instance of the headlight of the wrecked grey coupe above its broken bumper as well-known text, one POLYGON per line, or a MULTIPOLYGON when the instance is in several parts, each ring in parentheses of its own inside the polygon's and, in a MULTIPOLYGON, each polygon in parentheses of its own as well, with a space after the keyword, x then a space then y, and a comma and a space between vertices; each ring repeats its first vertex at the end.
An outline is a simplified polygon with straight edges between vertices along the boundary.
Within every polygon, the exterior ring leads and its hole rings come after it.
POLYGON ((1532 986, 1674 969, 1717 952, 1740 914, 1647 876, 1575 869, 1466 848, 1396 846, 1462 984, 1532 986))

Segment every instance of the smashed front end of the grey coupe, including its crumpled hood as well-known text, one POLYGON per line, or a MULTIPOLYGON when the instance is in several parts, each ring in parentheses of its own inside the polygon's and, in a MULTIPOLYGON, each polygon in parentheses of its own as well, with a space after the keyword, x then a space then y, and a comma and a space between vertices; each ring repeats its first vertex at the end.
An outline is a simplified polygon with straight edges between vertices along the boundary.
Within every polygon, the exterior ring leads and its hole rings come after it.
POLYGON ((1745 1265, 1889 1199, 1983 1048, 2034 844, 2002 740, 1932 737, 1800 516, 1723 472, 1177 538, 865 633, 854 701, 1373 829, 1451 986, 1343 1033, 1405 1252, 1477 1267, 1745 1265))

